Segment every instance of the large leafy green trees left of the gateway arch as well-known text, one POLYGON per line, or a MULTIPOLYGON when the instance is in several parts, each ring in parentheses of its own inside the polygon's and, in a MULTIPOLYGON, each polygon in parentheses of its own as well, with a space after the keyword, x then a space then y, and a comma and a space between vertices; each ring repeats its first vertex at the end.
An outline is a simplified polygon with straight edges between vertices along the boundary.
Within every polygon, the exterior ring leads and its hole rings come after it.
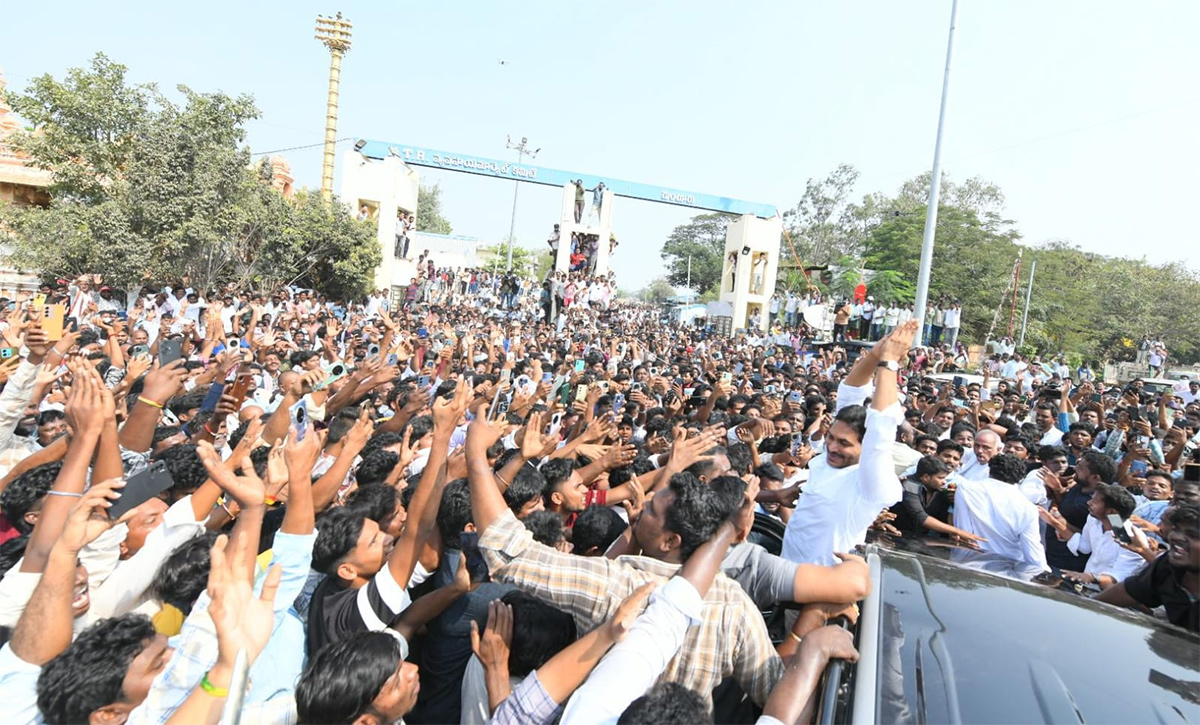
POLYGON ((124 287, 187 275, 205 289, 227 281, 295 282, 336 296, 370 289, 380 258, 373 230, 341 204, 284 199, 265 162, 251 166, 250 96, 179 86, 176 103, 125 73, 98 54, 64 82, 42 76, 8 95, 34 127, 13 145, 54 178, 48 208, 0 206, 10 264, 100 271, 124 287))

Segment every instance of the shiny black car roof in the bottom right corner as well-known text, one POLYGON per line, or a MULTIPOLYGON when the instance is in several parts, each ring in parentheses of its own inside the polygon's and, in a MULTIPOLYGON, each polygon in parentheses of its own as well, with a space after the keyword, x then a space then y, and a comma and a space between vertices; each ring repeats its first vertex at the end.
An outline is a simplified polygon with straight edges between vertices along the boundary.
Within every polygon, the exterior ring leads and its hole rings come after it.
POLYGON ((1200 720, 1194 633, 970 562, 869 551, 876 721, 1200 720))

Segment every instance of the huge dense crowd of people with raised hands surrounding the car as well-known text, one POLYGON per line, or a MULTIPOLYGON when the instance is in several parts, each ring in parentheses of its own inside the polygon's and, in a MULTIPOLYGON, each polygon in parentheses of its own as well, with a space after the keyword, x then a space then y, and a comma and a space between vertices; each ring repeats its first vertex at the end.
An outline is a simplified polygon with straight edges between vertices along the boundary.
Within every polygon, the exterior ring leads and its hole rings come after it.
POLYGON ((856 359, 420 266, 403 299, 0 301, 13 721, 809 721, 868 537, 1200 629, 1200 383, 938 382, 944 314, 876 308, 856 359))

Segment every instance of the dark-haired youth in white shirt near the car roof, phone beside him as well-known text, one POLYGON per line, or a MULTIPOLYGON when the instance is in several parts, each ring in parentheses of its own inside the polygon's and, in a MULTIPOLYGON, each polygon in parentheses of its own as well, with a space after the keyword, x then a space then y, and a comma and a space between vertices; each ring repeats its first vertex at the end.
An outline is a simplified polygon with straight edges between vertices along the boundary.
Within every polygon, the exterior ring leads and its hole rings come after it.
POLYGON ((1146 561, 1141 556, 1117 543, 1112 526, 1109 525, 1109 516, 1120 516, 1122 525, 1128 527, 1132 538, 1145 547, 1147 545, 1146 534, 1127 523, 1135 507, 1136 502, 1133 495, 1120 484, 1100 484, 1092 493, 1091 501, 1087 502, 1087 523, 1084 525, 1081 532, 1072 532, 1066 519, 1043 509, 1042 520, 1055 529, 1060 541, 1067 543, 1067 549, 1072 553, 1091 555, 1082 571, 1064 571, 1064 574, 1070 579, 1094 583, 1102 589, 1108 589, 1145 567, 1146 561))

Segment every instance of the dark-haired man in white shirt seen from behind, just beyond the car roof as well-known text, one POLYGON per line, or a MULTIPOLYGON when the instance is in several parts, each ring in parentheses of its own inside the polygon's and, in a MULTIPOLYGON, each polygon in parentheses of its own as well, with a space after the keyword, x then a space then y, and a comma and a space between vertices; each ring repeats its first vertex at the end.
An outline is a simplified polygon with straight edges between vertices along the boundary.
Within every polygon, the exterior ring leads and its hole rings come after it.
MULTIPOLYGON (((1038 509, 1016 486, 1025 463, 1016 456, 992 456, 991 478, 961 479, 954 493, 954 526, 982 537, 979 549, 1013 561, 1049 569, 1038 509)), ((802 497, 803 498, 803 497, 802 497)))

